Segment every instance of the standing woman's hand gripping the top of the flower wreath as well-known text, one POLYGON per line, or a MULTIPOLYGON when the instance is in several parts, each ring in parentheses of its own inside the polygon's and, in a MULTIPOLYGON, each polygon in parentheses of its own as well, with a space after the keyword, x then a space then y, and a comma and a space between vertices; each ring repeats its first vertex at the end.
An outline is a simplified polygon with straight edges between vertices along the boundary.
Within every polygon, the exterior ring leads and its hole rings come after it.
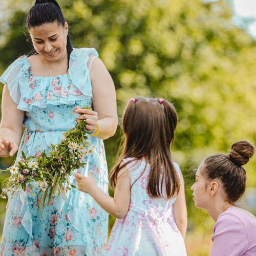
POLYGON ((80 106, 75 107, 75 113, 80 114, 77 121, 84 119, 86 122, 86 130, 90 132, 95 132, 97 130, 98 123, 98 113, 93 110, 84 110, 80 106))

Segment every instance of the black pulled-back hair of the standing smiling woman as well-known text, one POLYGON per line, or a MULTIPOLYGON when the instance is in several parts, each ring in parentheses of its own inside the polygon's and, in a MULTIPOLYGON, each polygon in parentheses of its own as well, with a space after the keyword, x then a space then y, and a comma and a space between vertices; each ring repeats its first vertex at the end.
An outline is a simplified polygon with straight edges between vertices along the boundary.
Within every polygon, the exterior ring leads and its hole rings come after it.
MULTIPOLYGON (((36 0, 34 6, 30 9, 26 26, 28 29, 42 24, 54 23, 56 22, 58 26, 65 26, 65 18, 63 13, 55 0, 36 0)), ((67 54, 68 54, 68 65, 70 54, 73 51, 69 35, 67 35, 67 54)), ((35 54, 36 51, 33 50, 29 56, 35 54)))

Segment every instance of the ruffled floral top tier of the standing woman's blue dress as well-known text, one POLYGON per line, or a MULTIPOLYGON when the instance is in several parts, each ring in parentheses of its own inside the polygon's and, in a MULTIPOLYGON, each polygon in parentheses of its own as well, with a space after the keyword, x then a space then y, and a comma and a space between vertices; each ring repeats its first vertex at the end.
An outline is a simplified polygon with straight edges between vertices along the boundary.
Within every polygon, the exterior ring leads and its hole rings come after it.
POLYGON ((70 55, 69 73, 52 77, 33 76, 27 56, 21 56, 4 72, 0 82, 7 83, 17 108, 27 112, 31 112, 33 106, 71 105, 76 100, 91 99, 92 86, 87 67, 90 54, 98 57, 94 48, 74 49, 70 55))

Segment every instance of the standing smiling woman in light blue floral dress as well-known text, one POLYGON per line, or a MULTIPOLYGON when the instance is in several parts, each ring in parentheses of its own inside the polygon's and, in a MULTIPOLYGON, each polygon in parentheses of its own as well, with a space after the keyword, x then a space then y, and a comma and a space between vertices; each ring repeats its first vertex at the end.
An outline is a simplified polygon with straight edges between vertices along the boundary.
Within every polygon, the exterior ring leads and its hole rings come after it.
MULTIPOLYGON (((33 52, 16 59, 0 77, 5 84, 0 156, 13 156, 17 150, 17 157, 22 151, 26 157, 49 152, 75 126, 76 117, 70 114, 75 112, 86 122, 94 145, 79 172, 88 176, 92 171, 108 194, 103 139, 115 134, 118 123, 113 80, 94 48, 72 48, 68 23, 56 1, 37 0, 26 26, 33 52)), ((70 182, 76 184, 74 177, 70 182)), ((54 197, 42 216, 35 184, 27 186, 25 195, 9 197, 0 255, 104 254, 108 214, 88 194, 72 187, 65 198, 61 193, 54 197)))

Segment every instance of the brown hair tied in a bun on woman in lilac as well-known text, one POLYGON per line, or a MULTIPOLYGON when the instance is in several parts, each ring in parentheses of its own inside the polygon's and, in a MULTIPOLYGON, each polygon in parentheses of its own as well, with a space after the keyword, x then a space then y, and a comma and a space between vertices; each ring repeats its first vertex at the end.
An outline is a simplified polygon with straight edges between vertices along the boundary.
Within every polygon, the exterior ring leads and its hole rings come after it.
POLYGON ((219 179, 227 201, 237 202, 244 194, 246 174, 242 165, 254 154, 254 146, 248 141, 238 141, 231 146, 229 155, 217 154, 206 158, 201 173, 207 180, 219 179))

